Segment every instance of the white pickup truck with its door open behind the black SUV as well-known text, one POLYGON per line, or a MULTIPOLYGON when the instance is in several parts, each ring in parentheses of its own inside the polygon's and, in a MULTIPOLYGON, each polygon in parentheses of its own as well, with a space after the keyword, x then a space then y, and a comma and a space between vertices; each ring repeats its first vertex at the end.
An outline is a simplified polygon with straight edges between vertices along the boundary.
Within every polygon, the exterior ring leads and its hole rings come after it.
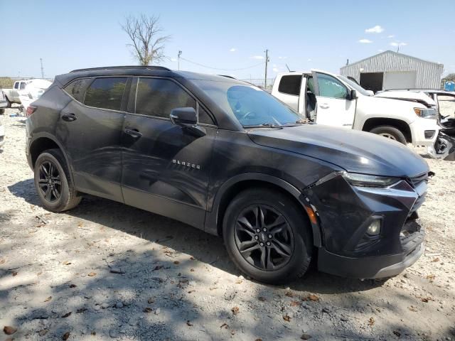
POLYGON ((279 73, 272 95, 317 124, 370 131, 402 144, 433 146, 440 129, 434 108, 374 97, 352 80, 326 71, 279 73))

